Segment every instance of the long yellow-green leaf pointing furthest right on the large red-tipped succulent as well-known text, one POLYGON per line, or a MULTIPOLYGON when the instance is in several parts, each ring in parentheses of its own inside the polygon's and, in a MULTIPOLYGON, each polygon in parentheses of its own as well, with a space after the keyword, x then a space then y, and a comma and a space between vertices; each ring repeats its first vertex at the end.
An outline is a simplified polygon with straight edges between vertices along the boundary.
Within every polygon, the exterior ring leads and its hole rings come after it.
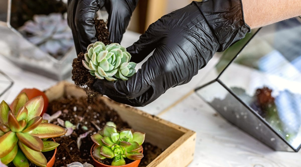
POLYGON ((64 135, 66 129, 51 123, 40 123, 36 129, 31 132, 31 135, 39 138, 54 138, 64 135))

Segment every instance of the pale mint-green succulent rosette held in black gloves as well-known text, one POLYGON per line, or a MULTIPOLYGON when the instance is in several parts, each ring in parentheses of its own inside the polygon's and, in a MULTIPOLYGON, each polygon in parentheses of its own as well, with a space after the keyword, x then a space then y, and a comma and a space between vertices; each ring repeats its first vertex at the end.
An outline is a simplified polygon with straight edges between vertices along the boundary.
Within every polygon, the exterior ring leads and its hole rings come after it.
POLYGON ((82 64, 95 78, 105 78, 109 81, 114 81, 116 78, 128 80, 128 77, 136 72, 136 63, 129 62, 131 55, 120 44, 112 43, 105 46, 98 41, 90 44, 87 50, 82 64))

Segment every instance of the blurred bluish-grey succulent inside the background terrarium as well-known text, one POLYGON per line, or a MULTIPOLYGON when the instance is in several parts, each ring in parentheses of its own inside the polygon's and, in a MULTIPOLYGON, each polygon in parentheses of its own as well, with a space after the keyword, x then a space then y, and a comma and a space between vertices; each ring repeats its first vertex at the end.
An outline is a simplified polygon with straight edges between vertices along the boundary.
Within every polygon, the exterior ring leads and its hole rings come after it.
POLYGON ((57 59, 74 45, 71 29, 60 13, 34 15, 33 20, 18 30, 28 41, 57 59))

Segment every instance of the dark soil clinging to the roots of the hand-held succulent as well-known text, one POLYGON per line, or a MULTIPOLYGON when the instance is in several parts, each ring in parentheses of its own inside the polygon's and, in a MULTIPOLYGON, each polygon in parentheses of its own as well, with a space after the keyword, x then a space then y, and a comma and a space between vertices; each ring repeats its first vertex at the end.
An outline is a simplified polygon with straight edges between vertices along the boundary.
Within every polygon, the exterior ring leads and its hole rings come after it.
MULTIPOLYGON (((107 22, 104 20, 95 19, 96 37, 98 41, 103 42, 105 45, 112 43, 108 40, 110 32, 107 29, 107 22)), ((77 58, 73 59, 72 62, 72 80, 77 86, 83 87, 85 92, 90 96, 98 94, 92 86, 95 82, 95 77, 90 74, 90 72, 82 65, 82 60, 84 60, 84 53, 79 53, 77 58)))

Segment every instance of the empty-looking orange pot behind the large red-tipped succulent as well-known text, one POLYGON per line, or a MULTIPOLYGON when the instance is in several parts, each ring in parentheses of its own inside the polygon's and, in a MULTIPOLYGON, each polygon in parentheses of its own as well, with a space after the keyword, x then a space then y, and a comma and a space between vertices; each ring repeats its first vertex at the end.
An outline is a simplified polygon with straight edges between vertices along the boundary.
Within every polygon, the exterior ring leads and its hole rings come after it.
MULTIPOLYGON (((42 91, 40 91, 40 90, 38 90, 38 89, 36 89, 36 88, 23 89, 23 90, 20 91, 20 93, 23 93, 23 92, 26 93, 26 95, 28 96, 29 100, 32 99, 32 98, 34 98, 34 97, 36 97, 36 96, 43 96, 43 99, 44 99, 44 108, 43 108, 43 111, 42 111, 42 114, 41 114, 41 116, 42 116, 47 111, 47 107, 48 107, 48 98, 45 95, 45 93, 42 92, 42 91)), ((13 104, 14 104, 14 102, 12 102, 9 107, 12 108, 13 104)))

